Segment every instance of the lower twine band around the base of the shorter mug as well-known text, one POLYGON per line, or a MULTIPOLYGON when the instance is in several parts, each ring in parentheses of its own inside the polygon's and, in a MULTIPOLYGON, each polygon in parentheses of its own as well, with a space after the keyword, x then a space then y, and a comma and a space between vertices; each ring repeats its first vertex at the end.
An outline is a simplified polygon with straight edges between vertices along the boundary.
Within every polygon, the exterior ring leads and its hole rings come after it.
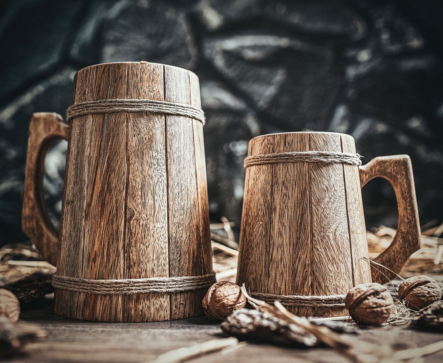
POLYGON ((268 303, 273 303, 278 300, 286 306, 325 306, 328 308, 345 306, 346 295, 319 295, 319 296, 305 296, 305 295, 274 295, 272 293, 251 293, 252 297, 263 300, 268 303))

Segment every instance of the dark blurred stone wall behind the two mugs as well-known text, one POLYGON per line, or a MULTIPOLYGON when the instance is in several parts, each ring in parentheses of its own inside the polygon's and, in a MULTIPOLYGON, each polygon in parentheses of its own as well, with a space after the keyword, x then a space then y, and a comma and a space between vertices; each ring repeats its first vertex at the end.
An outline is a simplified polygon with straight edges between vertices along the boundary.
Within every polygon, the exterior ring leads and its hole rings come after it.
MULTIPOLYGON (((212 220, 240 220, 248 140, 302 130, 350 133, 365 162, 411 155, 421 221, 443 219, 439 0, 4 0, 0 14, 0 245, 26 239, 32 112, 65 115, 74 72, 116 61, 200 77, 212 220)), ((46 162, 54 220, 65 153, 59 143, 46 162)), ((364 201, 368 226, 395 226, 387 183, 371 182, 364 201)))

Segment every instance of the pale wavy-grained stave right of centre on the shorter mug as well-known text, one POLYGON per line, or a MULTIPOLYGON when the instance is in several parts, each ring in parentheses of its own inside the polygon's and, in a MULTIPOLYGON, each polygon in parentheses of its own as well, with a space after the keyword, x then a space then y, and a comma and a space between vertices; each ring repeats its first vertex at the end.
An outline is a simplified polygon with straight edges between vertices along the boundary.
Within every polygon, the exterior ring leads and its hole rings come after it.
MULTIPOLYGON (((340 137, 333 133, 310 133, 309 149, 340 152, 340 137)), ((311 162, 309 175, 311 293, 336 295, 347 292, 353 285, 343 167, 342 164, 311 162)), ((312 314, 343 316, 347 315, 347 310, 314 308, 312 314)))

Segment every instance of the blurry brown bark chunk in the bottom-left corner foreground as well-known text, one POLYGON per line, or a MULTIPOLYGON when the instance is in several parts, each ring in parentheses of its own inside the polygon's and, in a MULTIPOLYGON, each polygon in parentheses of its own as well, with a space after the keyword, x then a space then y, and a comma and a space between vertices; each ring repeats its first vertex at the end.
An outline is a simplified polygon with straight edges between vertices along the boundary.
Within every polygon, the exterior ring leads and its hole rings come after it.
POLYGON ((36 324, 11 321, 0 318, 0 358, 12 357, 23 353, 27 344, 43 340, 47 337, 46 330, 36 324))

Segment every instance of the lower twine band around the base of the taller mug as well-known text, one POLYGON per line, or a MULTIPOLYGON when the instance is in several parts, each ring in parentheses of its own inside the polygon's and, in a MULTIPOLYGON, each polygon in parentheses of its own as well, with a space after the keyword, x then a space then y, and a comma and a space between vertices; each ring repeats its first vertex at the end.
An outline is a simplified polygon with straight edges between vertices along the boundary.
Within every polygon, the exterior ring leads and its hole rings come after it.
POLYGON ((202 276, 128 278, 121 280, 94 280, 54 274, 52 286, 56 289, 100 295, 129 293, 179 293, 209 287, 215 282, 215 272, 202 276))

